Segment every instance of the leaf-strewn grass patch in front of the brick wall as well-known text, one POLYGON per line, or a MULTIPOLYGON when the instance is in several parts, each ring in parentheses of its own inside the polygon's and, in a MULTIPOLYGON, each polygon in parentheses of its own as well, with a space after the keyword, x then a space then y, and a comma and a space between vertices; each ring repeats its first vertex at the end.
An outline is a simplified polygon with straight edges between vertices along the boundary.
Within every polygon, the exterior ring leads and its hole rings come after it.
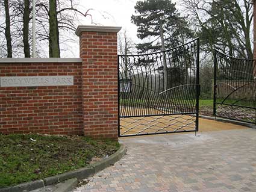
POLYGON ((50 135, 0 135, 0 188, 86 167, 111 155, 113 140, 50 135))

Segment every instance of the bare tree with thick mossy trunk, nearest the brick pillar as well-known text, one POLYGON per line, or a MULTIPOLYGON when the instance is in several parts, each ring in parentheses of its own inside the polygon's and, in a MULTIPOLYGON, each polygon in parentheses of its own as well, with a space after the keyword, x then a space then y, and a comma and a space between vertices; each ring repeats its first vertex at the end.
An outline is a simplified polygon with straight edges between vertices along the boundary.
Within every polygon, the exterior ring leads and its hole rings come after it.
POLYGON ((89 13, 91 9, 87 9, 85 12, 79 10, 75 0, 41 0, 37 7, 39 10, 37 15, 40 18, 38 34, 40 41, 49 40, 49 57, 60 57, 61 42, 70 40, 69 36, 63 36, 63 34, 75 31, 80 17, 89 16, 92 20, 92 15, 89 13), (48 33, 48 29, 50 33, 48 33))

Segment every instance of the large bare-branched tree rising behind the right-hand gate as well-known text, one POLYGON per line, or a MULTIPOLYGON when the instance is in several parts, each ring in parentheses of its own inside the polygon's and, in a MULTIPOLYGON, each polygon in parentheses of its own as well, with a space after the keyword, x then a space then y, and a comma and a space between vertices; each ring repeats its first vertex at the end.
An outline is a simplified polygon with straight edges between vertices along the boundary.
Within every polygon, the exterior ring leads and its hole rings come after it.
POLYGON ((252 5, 249 0, 183 0, 191 23, 204 45, 231 56, 252 58, 252 5))

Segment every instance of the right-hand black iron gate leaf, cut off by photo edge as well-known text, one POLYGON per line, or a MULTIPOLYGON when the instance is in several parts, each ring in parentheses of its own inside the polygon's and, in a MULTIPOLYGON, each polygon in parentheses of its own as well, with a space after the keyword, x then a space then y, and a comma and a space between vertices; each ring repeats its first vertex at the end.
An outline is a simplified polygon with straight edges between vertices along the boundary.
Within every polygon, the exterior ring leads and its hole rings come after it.
POLYGON ((215 50, 214 115, 256 123, 256 60, 215 50))

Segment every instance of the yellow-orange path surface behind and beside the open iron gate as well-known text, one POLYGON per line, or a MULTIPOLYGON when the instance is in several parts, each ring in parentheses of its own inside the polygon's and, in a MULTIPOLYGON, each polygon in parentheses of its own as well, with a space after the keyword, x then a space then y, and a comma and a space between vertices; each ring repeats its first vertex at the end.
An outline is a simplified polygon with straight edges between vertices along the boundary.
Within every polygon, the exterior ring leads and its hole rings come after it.
MULTIPOLYGON (((245 129, 245 126, 232 123, 217 122, 199 118, 199 132, 225 131, 245 129)), ((195 130, 195 117, 192 116, 161 116, 161 117, 131 117, 120 119, 120 134, 148 134, 163 132, 179 132, 195 130)))

